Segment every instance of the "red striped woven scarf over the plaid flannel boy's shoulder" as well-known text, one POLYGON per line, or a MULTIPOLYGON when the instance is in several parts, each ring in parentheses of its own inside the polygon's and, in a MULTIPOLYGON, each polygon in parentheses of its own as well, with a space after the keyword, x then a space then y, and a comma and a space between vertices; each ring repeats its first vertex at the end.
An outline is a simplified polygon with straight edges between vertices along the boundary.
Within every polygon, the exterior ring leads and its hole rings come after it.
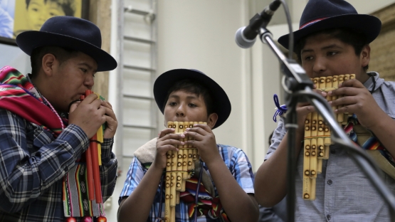
POLYGON ((63 121, 45 103, 49 104, 18 70, 11 66, 0 69, 0 108, 43 127, 56 138, 63 130, 63 121))

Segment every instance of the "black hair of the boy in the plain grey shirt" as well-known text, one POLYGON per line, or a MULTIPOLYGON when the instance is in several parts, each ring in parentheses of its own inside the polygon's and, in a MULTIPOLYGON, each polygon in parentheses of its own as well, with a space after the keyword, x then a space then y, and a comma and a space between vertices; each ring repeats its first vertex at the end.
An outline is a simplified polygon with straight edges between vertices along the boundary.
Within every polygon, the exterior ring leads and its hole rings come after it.
MULTIPOLYGON (((330 35, 333 38, 337 38, 339 39, 339 41, 342 41, 343 43, 352 46, 354 48, 355 55, 357 56, 361 54, 362 48, 364 48, 364 46, 367 46, 369 44, 367 42, 366 36, 363 33, 361 33, 360 31, 353 30, 351 28, 331 28, 323 31, 317 31, 315 33, 311 33, 310 35, 301 38, 300 41, 297 41, 297 43, 295 44, 295 53, 300 63, 302 62, 300 53, 302 51, 302 48, 305 47, 306 39, 308 37, 317 36, 320 34, 330 35)), ((368 68, 369 68, 369 64, 364 66, 364 71, 366 72, 368 68)))

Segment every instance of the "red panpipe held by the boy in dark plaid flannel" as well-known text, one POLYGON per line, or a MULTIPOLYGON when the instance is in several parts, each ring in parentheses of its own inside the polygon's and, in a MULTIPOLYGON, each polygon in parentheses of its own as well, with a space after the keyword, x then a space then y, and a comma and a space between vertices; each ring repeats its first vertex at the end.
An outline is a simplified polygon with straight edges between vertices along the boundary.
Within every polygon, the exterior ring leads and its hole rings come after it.
MULTIPOLYGON (((85 91, 85 96, 92 94, 91 90, 85 91)), ((81 95, 80 99, 83 100, 85 98, 84 95, 81 95)), ((100 99, 100 95, 98 95, 98 99, 100 99)), ((87 169, 87 177, 88 177, 88 197, 90 201, 95 200, 96 203, 102 203, 102 189, 100 185, 100 171, 99 167, 101 166, 101 144, 103 142, 103 127, 100 126, 98 131, 92 138, 89 139, 89 146, 85 152, 86 158, 86 169, 87 169)))

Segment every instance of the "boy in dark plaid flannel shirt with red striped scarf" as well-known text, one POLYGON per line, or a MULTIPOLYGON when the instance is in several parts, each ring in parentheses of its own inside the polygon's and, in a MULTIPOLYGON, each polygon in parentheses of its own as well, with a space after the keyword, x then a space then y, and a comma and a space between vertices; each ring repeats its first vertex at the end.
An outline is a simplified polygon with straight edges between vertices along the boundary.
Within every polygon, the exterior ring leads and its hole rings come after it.
MULTIPOLYGON (((31 56, 32 73, 0 69, 0 221, 65 221, 70 212, 63 210, 63 201, 68 202, 63 179, 105 122, 103 201, 114 191, 117 160, 111 149, 117 119, 112 107, 95 94, 75 100, 92 88, 96 72, 112 70, 117 62, 100 49, 99 28, 81 18, 50 18, 40 31, 19 34, 16 43, 31 56)), ((86 191, 82 182, 78 186, 86 191)), ((78 209, 72 211, 75 216, 78 209)))

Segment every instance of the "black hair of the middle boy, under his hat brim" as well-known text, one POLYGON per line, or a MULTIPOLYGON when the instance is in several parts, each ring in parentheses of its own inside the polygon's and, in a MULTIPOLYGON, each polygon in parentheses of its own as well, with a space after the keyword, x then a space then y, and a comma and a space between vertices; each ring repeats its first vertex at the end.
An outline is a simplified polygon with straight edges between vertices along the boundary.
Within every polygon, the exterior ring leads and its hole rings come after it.
POLYGON ((200 95, 203 97, 204 103, 207 108, 207 115, 214 113, 214 100, 211 97, 210 91, 203 84, 196 80, 185 79, 179 80, 167 91, 166 99, 164 100, 163 110, 166 107, 167 100, 169 100, 169 95, 175 91, 184 90, 187 93, 194 93, 197 97, 200 95))

